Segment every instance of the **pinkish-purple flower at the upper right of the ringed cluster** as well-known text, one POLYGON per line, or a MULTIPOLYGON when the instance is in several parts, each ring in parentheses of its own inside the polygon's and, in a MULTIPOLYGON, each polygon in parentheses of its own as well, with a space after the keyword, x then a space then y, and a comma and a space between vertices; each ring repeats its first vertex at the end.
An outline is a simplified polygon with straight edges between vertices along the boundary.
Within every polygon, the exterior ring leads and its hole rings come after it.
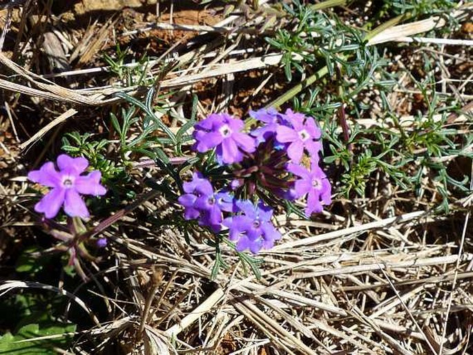
POLYGON ((302 113, 293 113, 288 108, 286 119, 291 123, 291 127, 278 126, 276 129, 276 140, 281 143, 289 143, 287 155, 294 163, 299 163, 304 153, 304 148, 313 157, 318 155, 321 144, 317 140, 321 132, 312 117, 306 117, 302 113))

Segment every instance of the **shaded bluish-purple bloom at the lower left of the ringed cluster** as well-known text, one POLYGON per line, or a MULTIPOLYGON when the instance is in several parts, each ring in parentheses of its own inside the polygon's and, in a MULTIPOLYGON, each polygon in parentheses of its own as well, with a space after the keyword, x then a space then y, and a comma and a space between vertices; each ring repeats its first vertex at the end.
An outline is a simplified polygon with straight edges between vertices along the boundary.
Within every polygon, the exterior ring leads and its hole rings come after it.
POLYGON ((202 226, 211 227, 215 232, 222 229, 222 211, 233 211, 233 196, 226 192, 214 193, 209 180, 201 173, 193 173, 191 182, 184 182, 184 195, 177 200, 184 206, 186 220, 198 219, 202 226))

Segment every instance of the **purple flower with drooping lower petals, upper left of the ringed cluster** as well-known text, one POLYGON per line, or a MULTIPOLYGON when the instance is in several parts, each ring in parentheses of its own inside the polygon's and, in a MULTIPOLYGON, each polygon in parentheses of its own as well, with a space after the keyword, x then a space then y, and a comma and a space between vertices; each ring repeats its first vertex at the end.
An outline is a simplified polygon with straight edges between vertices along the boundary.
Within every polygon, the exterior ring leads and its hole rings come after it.
POLYGON ((243 152, 255 151, 255 140, 242 133, 244 122, 226 113, 213 113, 194 128, 195 149, 205 153, 216 147, 219 164, 241 162, 243 152))

